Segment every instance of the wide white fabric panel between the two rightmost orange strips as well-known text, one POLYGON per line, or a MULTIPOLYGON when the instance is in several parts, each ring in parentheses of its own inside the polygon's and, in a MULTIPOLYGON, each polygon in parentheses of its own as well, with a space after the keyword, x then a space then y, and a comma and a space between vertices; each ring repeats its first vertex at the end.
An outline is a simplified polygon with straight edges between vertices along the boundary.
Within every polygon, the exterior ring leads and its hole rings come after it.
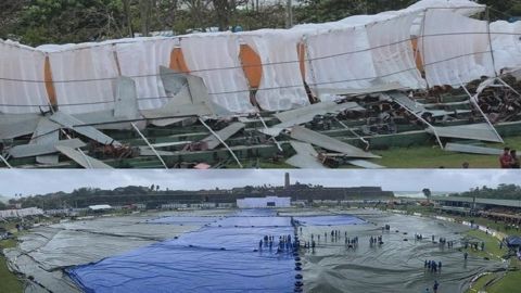
POLYGON ((418 12, 351 16, 339 21, 335 29, 305 36, 306 81, 322 101, 330 92, 393 82, 423 88, 409 41, 417 17, 418 12))

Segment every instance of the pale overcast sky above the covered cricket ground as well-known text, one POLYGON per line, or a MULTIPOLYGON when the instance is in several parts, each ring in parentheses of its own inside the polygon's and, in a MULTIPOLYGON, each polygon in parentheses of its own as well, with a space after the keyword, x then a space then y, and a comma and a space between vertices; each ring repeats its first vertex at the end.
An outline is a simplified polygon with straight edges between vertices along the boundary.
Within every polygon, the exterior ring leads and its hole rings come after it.
POLYGON ((521 183, 521 173, 503 169, 382 169, 382 170, 0 170, 0 195, 25 195, 72 191, 80 187, 114 189, 160 184, 161 189, 214 189, 260 184, 282 186, 284 173, 291 182, 327 187, 381 186, 389 191, 467 191, 473 187, 521 183))

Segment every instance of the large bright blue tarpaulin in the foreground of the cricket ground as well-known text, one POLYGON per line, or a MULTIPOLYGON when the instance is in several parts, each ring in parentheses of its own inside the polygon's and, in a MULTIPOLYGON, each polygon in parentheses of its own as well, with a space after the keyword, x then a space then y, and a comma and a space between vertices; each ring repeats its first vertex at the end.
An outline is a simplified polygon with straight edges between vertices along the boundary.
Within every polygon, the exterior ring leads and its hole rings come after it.
POLYGON ((292 232, 291 226, 205 227, 67 272, 85 292, 293 292, 292 253, 276 253, 276 245, 254 251, 265 235, 292 232))

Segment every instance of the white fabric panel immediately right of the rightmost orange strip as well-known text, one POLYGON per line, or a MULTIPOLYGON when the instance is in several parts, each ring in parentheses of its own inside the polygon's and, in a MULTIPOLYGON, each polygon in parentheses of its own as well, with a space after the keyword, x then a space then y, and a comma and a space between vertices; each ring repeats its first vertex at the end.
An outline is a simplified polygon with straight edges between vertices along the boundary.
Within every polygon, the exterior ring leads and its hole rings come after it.
POLYGON ((425 13, 420 40, 427 81, 430 86, 460 86, 494 75, 487 23, 443 9, 425 13))

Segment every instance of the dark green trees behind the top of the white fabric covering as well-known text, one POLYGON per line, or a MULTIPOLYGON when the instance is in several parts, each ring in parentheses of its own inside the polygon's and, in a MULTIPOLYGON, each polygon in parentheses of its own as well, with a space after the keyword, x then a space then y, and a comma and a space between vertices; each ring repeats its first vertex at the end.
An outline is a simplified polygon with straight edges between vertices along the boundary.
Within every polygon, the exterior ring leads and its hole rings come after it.
MULTIPOLYGON (((205 31, 284 27, 283 4, 257 0, 2 0, 0 38, 22 43, 67 43, 205 31)), ((282 1, 284 2, 284 1, 282 1)), ((295 23, 322 23, 351 15, 399 10, 415 0, 294 0, 295 23)), ((480 0, 491 5, 491 18, 521 15, 521 0, 480 0)))

